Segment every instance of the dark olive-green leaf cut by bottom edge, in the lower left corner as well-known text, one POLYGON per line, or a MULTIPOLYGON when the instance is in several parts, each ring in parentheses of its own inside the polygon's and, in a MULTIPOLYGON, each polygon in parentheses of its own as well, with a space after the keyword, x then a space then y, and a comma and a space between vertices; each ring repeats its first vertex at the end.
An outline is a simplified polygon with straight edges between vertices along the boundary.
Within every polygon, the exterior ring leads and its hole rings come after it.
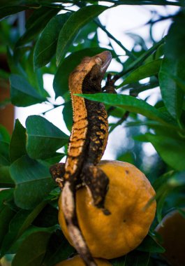
POLYGON ((27 237, 15 257, 13 258, 13 266, 36 266, 41 265, 43 261, 50 232, 35 232, 27 237))

